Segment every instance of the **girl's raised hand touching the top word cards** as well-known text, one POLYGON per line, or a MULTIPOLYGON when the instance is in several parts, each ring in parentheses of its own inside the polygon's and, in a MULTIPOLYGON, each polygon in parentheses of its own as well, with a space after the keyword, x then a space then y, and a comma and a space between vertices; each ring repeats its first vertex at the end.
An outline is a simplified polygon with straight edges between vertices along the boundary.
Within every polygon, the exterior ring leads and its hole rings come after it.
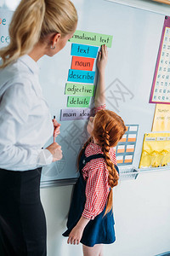
POLYGON ((108 59, 108 50, 107 50, 107 46, 104 44, 101 46, 101 49, 98 55, 98 60, 97 60, 97 67, 99 72, 105 72, 107 59, 108 59))

